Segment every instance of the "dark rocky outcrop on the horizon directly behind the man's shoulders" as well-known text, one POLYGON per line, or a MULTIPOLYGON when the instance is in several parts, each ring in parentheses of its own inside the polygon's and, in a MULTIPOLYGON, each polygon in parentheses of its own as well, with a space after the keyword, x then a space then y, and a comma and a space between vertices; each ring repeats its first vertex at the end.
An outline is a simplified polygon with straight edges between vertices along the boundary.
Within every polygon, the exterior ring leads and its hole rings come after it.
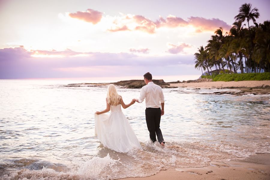
MULTIPOLYGON (((166 86, 170 86, 169 83, 164 82, 163 79, 153 79, 152 80, 155 84, 161 86, 162 88, 165 88, 166 86)), ((144 80, 127 80, 127 81, 119 81, 119 82, 113 82, 114 85, 121 85, 123 88, 130 88, 130 89, 140 89, 143 86, 145 86, 144 80)), ((168 87, 171 88, 171 87, 168 87)))

